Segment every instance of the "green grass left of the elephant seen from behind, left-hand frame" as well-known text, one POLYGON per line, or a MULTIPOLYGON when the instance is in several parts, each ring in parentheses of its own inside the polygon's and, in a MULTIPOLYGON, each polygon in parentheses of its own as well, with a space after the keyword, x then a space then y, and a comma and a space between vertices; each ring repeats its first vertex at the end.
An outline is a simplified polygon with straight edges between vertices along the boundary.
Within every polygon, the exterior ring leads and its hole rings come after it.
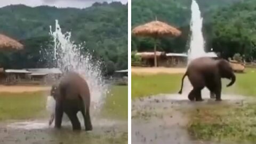
POLYGON ((43 117, 45 103, 44 92, 0 93, 0 121, 43 117))

